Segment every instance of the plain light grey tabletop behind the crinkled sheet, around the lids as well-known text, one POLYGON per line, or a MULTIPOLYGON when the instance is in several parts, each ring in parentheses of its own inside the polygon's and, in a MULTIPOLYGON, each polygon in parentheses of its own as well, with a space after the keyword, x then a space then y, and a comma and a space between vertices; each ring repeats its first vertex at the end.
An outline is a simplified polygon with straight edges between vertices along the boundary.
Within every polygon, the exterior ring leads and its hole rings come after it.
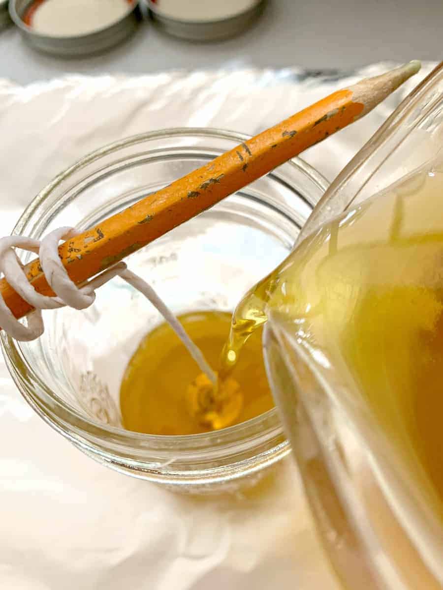
POLYGON ((382 60, 439 60, 439 0, 270 0, 239 37, 210 44, 181 41, 144 22, 125 44, 82 60, 38 54, 14 27, 0 31, 0 77, 20 84, 67 72, 139 74, 177 68, 285 67, 350 70, 382 60))

